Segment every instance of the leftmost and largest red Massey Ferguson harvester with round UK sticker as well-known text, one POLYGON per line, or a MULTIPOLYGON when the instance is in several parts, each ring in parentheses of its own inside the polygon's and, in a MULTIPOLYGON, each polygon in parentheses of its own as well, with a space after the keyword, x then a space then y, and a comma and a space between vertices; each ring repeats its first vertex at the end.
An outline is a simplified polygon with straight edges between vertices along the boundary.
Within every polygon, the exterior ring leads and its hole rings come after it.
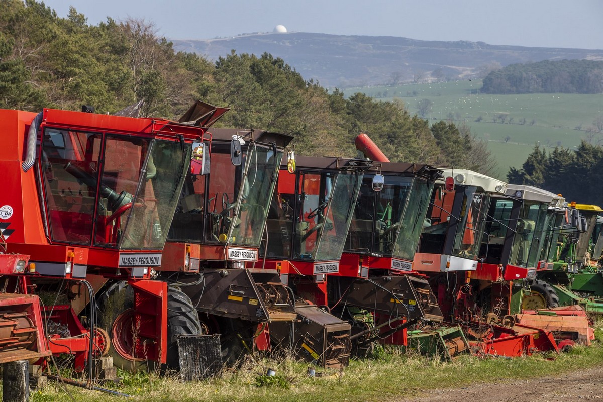
POLYGON ((0 110, 0 121, 0 227, 6 253, 30 256, 2 272, 4 289, 19 294, 3 295, 3 308, 34 311, 37 339, 47 338, 53 354, 74 354, 78 371, 92 372, 92 360, 106 354, 125 368, 166 363, 173 318, 167 283, 153 280, 153 269, 162 262, 193 141, 195 163, 203 163, 204 129, 49 108, 37 115, 0 110), (114 292, 109 280, 130 291, 114 292), (31 294, 45 300, 43 322, 35 301, 24 304, 31 294))

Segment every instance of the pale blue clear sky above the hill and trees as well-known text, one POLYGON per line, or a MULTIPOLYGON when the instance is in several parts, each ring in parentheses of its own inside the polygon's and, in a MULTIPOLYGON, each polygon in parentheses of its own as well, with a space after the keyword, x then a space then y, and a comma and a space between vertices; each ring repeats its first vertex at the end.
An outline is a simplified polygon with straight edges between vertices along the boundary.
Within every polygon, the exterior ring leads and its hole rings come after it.
POLYGON ((44 0, 97 25, 112 17, 154 22, 168 39, 289 32, 470 40, 490 45, 603 49, 602 0, 44 0))

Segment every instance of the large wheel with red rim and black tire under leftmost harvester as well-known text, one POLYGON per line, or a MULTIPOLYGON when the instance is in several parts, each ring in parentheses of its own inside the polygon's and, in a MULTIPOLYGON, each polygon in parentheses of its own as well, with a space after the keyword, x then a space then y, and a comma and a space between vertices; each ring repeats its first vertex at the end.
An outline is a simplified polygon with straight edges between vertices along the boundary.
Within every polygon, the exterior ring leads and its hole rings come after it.
MULTIPOLYGON (((109 333, 109 355, 113 365, 126 371, 152 371, 157 362, 134 352, 134 292, 126 281, 114 283, 98 301, 98 326, 109 333)), ((178 334, 200 334, 201 323, 191 299, 174 287, 168 287, 167 364, 162 369, 178 369, 178 334)))

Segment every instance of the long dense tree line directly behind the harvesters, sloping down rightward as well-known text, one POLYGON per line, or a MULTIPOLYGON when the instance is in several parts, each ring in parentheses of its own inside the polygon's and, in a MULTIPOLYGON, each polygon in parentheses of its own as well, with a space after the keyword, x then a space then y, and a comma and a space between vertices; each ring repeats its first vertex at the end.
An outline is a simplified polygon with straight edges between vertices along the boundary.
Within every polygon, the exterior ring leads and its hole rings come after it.
POLYGON ((262 128, 295 137, 300 154, 353 157, 353 139, 367 133, 394 162, 430 163, 494 172, 485 143, 468 127, 430 125, 400 101, 362 93, 345 98, 306 81, 284 60, 232 51, 217 61, 176 52, 139 19, 87 24, 43 2, 2 0, 0 107, 39 111, 93 105, 115 113, 142 99, 145 116, 177 119, 197 99, 229 113, 220 127, 262 128))

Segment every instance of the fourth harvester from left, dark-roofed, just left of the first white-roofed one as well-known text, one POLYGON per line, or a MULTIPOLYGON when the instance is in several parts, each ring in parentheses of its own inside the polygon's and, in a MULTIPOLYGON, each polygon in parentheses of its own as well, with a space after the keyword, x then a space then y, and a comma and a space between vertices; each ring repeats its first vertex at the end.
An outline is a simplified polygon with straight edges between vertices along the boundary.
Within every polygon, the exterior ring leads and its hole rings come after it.
POLYGON ((428 282, 411 275, 429 198, 440 176, 432 166, 391 162, 365 174, 339 272, 327 279, 329 306, 354 322, 352 338, 359 350, 376 339, 405 344, 409 325, 442 320, 428 282), (375 178, 383 182, 377 192, 375 178))

